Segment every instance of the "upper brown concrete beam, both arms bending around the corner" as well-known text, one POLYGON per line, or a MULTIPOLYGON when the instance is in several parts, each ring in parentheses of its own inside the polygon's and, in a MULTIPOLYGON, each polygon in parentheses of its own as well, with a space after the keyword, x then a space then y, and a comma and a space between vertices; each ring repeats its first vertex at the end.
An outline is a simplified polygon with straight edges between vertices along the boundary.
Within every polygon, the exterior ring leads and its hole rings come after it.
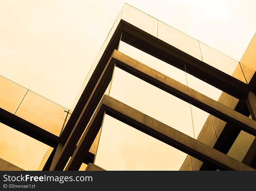
POLYGON ((184 101, 187 101, 188 103, 191 103, 224 121, 232 122, 241 126, 242 130, 250 134, 256 134, 256 121, 253 121, 239 112, 236 112, 231 108, 210 99, 209 97, 183 85, 182 83, 179 83, 178 81, 171 79, 168 76, 165 76, 164 74, 161 74, 160 72, 132 59, 131 57, 114 50, 100 79, 97 82, 97 85, 95 86, 95 89, 90 96, 90 99, 84 107, 80 118, 73 129, 73 132, 70 134, 69 139, 65 143, 61 154, 55 159, 56 165, 52 166, 51 170, 63 170, 70 156, 70 148, 74 148, 75 141, 77 140, 77 137, 79 137, 78 134, 82 134, 93 114, 94 109, 91 108, 96 108, 97 106, 98 102, 95 100, 97 99, 99 101, 99 98, 104 93, 104 90, 106 90, 108 82, 110 81, 110 78, 109 81, 106 81, 106 76, 110 77, 110 74, 113 72, 114 64, 116 64, 116 66, 122 70, 125 70, 134 76, 137 76, 144 81, 151 83, 152 85, 173 94, 176 97, 179 97, 180 99, 183 99, 184 101))

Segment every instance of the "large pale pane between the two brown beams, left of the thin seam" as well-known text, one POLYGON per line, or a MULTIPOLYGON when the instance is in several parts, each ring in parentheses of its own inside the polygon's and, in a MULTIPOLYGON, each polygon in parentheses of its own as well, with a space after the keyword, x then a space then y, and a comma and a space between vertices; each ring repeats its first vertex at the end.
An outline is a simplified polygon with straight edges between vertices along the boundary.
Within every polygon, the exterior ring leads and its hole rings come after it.
POLYGON ((109 95, 194 137, 189 103, 117 67, 115 67, 109 95))

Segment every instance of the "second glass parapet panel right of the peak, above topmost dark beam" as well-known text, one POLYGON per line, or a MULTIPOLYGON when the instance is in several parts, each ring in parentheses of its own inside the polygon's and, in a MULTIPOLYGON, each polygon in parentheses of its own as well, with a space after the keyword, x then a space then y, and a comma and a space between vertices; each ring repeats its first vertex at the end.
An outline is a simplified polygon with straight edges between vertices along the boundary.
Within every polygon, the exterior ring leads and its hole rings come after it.
POLYGON ((179 30, 158 21, 157 38, 202 61, 199 42, 179 30))

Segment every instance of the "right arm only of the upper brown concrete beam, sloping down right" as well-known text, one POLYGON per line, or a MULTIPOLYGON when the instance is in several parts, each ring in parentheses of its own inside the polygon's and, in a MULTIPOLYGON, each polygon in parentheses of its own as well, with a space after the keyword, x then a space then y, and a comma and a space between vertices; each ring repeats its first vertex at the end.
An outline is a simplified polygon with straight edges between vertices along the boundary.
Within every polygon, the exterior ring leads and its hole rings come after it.
POLYGON ((132 75, 222 119, 241 126, 241 130, 256 136, 256 121, 234 111, 200 92, 154 70, 135 59, 115 50, 112 55, 116 66, 132 75))

